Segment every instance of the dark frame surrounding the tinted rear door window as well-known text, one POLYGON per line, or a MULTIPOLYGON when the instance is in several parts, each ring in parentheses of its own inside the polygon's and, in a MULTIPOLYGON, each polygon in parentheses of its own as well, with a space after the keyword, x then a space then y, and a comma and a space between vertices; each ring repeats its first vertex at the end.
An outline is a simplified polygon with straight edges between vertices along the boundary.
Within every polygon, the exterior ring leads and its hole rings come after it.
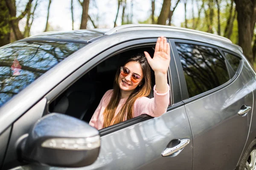
MULTIPOLYGON (((178 71, 178 74, 179 74, 180 89, 181 89, 181 93, 182 93, 182 101, 184 102, 184 104, 193 102, 193 101, 195 101, 197 99, 200 99, 204 96, 208 96, 209 94, 212 94, 216 91, 219 91, 222 88, 225 88, 228 85, 230 85, 236 79, 237 76, 231 77, 234 74, 233 69, 232 69, 230 63, 228 62, 226 56, 222 52, 222 48, 220 48, 218 46, 215 46, 215 45, 212 45, 212 44, 207 44, 207 43, 204 43, 204 42, 191 41, 191 40, 170 39, 170 41, 172 42, 172 48, 173 48, 173 52, 175 54, 175 61, 177 62, 177 71, 178 71), (185 75, 183 73, 183 68, 182 68, 182 65, 181 65, 181 62, 180 62, 180 56, 178 54, 177 47, 176 47, 175 43, 200 45, 200 46, 205 46, 205 47, 216 49, 220 53, 220 55, 225 59, 225 63, 226 63, 226 66, 227 66, 227 70, 228 70, 230 79, 227 82, 225 82, 224 84, 222 84, 222 85, 220 85, 216 88, 213 88, 209 91, 205 91, 204 93, 201 93, 201 94, 198 94, 196 96, 193 96, 193 97, 189 98, 189 93, 188 93, 188 88, 187 88, 187 85, 186 85, 185 75)), ((237 54, 236 54, 236 56, 237 56, 237 54)), ((241 68, 240 68, 240 70, 241 70, 241 68)))

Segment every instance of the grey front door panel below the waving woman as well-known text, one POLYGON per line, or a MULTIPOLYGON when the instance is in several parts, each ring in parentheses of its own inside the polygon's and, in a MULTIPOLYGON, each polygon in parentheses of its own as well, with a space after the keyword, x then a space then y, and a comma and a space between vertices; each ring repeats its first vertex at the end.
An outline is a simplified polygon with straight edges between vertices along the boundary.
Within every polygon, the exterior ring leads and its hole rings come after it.
MULTIPOLYGON (((96 162, 87 167, 72 168, 72 170, 157 168, 189 170, 192 169, 192 153, 192 133, 185 107, 181 105, 167 111, 163 116, 102 136, 100 153, 96 162), (188 138, 191 141, 177 156, 162 157, 161 153, 167 144, 176 138, 188 138)), ((41 165, 25 165, 16 170, 32 168, 42 169, 41 165)), ((44 167, 43 169, 62 170, 63 168, 44 167)))

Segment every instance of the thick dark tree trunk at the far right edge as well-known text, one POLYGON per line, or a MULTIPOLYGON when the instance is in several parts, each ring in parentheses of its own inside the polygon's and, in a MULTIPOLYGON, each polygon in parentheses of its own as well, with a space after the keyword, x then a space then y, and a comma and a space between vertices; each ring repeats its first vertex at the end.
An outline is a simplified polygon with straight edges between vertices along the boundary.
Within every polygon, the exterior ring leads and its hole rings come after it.
POLYGON ((235 0, 239 45, 243 48, 244 55, 253 64, 253 30, 256 21, 256 0, 235 0))

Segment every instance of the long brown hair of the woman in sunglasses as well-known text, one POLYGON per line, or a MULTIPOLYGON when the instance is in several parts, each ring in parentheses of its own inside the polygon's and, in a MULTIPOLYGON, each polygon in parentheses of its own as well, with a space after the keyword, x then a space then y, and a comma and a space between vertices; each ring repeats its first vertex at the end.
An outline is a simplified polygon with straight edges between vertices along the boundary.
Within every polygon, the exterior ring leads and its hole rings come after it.
POLYGON ((120 69, 117 70, 114 86, 113 86, 113 95, 108 103, 108 106, 105 108, 103 113, 104 115, 104 124, 103 128, 108 127, 110 125, 114 125, 125 120, 125 116, 127 116, 127 120, 134 117, 133 106, 139 97, 148 96, 151 91, 151 70, 150 66, 148 65, 148 61, 143 54, 139 54, 135 57, 129 59, 128 62, 138 62, 142 68, 143 72, 143 79, 140 81, 140 86, 138 85, 137 88, 134 89, 132 94, 128 97, 125 104, 122 106, 119 113, 115 116, 116 108, 121 99, 121 89, 119 88, 118 77, 120 74, 120 69), (113 120, 114 119, 114 120, 113 120))

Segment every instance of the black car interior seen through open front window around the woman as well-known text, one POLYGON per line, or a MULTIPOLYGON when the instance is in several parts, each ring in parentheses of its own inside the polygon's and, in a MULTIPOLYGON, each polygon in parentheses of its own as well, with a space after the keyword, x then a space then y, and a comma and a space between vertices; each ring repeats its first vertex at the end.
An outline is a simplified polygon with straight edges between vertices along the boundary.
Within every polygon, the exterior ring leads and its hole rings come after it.
MULTIPOLYGON (((102 96, 113 88, 117 69, 134 55, 144 54, 143 51, 147 51, 151 57, 154 55, 153 46, 135 48, 116 54, 99 63, 52 101, 49 105, 49 112, 63 113, 90 122, 102 96)), ((154 71, 151 69, 152 90, 149 98, 153 97, 154 84, 154 71)))

